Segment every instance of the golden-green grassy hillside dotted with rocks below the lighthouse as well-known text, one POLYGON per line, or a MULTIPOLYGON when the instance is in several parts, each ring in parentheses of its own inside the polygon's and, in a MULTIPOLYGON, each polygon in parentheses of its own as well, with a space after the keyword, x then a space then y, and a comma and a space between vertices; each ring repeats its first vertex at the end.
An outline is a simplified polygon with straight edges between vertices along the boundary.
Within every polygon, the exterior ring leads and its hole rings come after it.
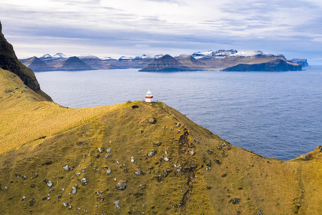
POLYGON ((0 214, 256 214, 260 210, 263 214, 318 214, 322 209, 319 149, 311 152, 308 161, 281 163, 230 145, 161 102, 64 108, 44 101, 23 88, 18 77, 9 75, 14 74, 0 70, 0 214), (7 89, 15 93, 5 93, 7 89), (148 123, 150 118, 156 123, 148 123), (175 127, 177 122, 182 123, 180 128, 175 127), (42 136, 46 138, 36 139, 42 136), (100 153, 99 147, 111 148, 111 158, 105 158, 106 150, 100 153), (196 150, 193 156, 187 152, 192 149, 196 150), (148 157, 152 150, 156 154, 148 157), (47 161, 52 164, 44 164, 47 161), (65 164, 75 169, 66 171, 65 164), (182 167, 180 172, 174 164, 182 167), (211 164, 208 170, 207 164, 211 164), (103 167, 111 173, 106 174, 103 167), (75 175, 85 168, 85 173, 75 175), (137 176, 137 170, 145 174, 137 176), (158 181, 164 170, 168 175, 158 181), (21 177, 15 177, 16 173, 21 177), (31 179, 35 174, 39 176, 31 179), (82 177, 87 185, 79 181, 82 177), (49 188, 44 179, 53 186, 49 188), (119 181, 126 181, 126 189, 115 189, 119 181), (75 183, 77 193, 69 194, 75 183), (98 202, 98 197, 104 201, 98 202), (240 199, 238 204, 229 202, 234 197, 240 199), (120 209, 114 205, 116 200, 120 209))

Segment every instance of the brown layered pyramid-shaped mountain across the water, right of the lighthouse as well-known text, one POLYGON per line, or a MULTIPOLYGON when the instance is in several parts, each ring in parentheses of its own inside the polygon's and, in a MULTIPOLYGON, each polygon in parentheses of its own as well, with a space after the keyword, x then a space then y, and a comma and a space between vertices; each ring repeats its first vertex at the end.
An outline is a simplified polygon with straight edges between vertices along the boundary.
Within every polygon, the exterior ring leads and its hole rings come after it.
POLYGON ((162 56, 139 71, 189 71, 190 68, 170 55, 162 56))

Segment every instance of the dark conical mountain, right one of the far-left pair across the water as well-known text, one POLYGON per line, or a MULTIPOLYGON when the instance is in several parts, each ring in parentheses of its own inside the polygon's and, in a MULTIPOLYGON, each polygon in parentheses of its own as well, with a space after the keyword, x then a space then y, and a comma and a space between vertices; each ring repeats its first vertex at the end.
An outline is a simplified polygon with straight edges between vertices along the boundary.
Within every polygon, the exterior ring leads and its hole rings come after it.
POLYGON ((76 56, 69 57, 68 59, 63 61, 59 61, 59 63, 54 67, 56 67, 57 70, 92 70, 93 69, 90 65, 86 64, 76 56))

